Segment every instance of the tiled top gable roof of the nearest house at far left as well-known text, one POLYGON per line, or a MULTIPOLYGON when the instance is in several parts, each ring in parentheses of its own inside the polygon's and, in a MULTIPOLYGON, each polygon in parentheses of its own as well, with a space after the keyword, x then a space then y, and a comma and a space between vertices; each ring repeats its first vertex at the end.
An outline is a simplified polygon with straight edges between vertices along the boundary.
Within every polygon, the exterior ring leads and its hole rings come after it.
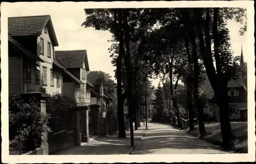
POLYGON ((18 16, 8 18, 8 33, 11 36, 38 36, 45 26, 54 46, 58 46, 57 37, 50 15, 18 16))

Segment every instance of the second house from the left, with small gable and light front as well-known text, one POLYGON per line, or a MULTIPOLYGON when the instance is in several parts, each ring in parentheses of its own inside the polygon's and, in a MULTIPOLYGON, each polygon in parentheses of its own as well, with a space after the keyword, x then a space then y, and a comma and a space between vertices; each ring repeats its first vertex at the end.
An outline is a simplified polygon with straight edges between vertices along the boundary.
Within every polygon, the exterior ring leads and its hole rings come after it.
POLYGON ((56 60, 61 63, 82 83, 74 83, 63 75, 63 94, 75 98, 79 104, 91 104, 91 89, 94 86, 87 81, 90 71, 86 50, 60 50, 55 51, 56 60))

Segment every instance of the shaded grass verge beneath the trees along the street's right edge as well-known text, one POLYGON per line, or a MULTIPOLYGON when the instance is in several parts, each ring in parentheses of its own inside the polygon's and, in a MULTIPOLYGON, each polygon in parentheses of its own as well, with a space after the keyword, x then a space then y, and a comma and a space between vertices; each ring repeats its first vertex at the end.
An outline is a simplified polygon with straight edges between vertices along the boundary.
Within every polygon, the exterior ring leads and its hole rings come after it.
MULTIPOLYGON (((235 136, 233 146, 228 151, 234 151, 237 153, 248 153, 248 133, 247 122, 230 122, 232 132, 235 136)), ((221 127, 220 123, 205 124, 206 134, 203 139, 215 145, 222 144, 221 127)), ((195 130, 184 130, 187 133, 200 137, 198 125, 195 126, 195 130)))

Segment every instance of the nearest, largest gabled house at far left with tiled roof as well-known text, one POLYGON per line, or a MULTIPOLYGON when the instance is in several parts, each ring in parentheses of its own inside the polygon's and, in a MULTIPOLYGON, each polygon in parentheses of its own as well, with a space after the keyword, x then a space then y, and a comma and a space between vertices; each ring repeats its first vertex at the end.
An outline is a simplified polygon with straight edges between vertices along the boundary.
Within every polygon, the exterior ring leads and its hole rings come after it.
POLYGON ((40 87, 49 94, 61 93, 62 73, 74 79, 56 64, 58 41, 50 15, 9 17, 8 34, 9 95, 40 87))

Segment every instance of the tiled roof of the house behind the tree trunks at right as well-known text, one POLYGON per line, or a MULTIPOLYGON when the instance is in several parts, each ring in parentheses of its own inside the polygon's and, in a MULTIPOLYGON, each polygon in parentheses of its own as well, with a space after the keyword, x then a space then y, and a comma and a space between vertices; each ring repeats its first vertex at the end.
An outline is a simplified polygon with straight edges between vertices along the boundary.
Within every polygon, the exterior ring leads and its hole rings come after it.
MULTIPOLYGON (((211 99, 215 95, 214 90, 211 87, 208 76, 206 74, 203 74, 202 77, 203 77, 203 82, 199 85, 199 89, 201 89, 202 92, 206 94, 207 99, 211 99)), ((239 74, 237 78, 231 78, 228 81, 227 88, 241 88, 241 87, 244 88, 245 91, 247 91, 241 74, 239 74)))

